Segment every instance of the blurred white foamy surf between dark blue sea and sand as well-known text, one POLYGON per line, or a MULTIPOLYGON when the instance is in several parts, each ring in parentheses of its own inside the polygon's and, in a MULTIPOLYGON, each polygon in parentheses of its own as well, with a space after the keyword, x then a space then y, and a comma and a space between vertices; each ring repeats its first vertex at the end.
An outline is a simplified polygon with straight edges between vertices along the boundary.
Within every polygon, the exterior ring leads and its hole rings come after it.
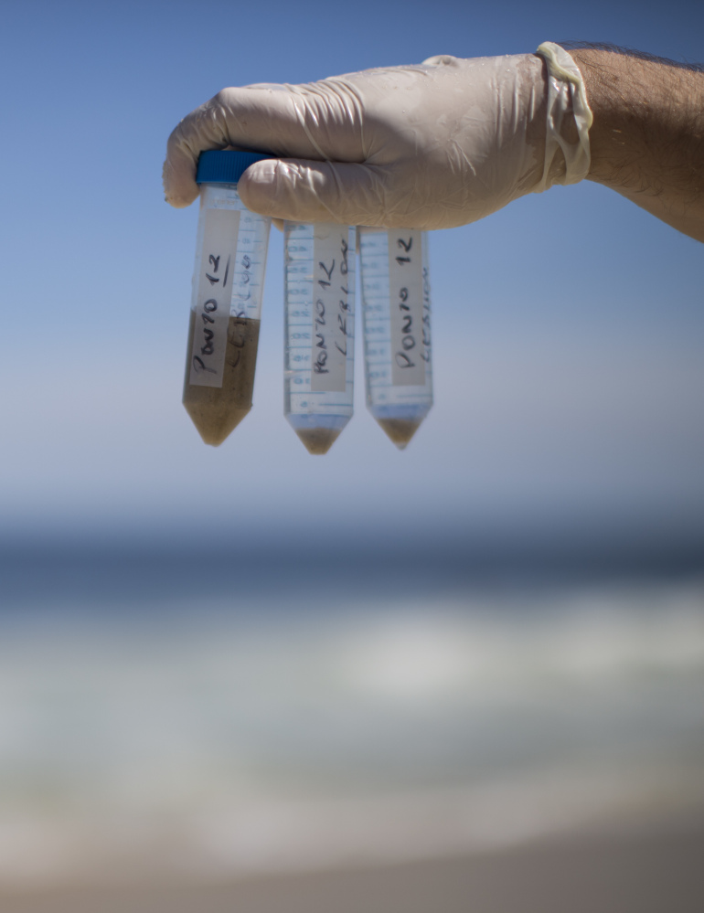
POLYGON ((701 586, 135 618, 3 632, 0 886, 415 858, 704 802, 701 586))

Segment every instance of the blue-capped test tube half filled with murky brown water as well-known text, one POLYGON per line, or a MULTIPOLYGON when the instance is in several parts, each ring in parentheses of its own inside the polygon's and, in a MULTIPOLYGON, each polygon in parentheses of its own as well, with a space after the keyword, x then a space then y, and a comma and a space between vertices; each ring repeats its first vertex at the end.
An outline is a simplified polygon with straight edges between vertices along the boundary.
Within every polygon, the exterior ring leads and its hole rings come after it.
POLYGON ((217 447, 251 409, 271 218, 246 209, 237 182, 265 154, 200 155, 183 404, 203 441, 217 447))

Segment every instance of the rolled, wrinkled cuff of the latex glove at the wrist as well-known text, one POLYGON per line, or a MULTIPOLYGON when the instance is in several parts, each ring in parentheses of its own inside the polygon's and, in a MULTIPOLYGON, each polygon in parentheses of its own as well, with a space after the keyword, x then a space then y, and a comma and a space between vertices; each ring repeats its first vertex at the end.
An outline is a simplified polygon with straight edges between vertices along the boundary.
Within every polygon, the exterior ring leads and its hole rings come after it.
POLYGON ((589 128, 592 126, 593 115, 587 102, 580 69, 571 55, 553 41, 544 41, 536 53, 544 58, 548 67, 545 165, 542 180, 535 187, 535 191, 540 193, 553 184, 577 184, 589 174, 589 128), (577 143, 568 143, 561 134, 566 117, 574 118, 579 137, 577 143), (565 173, 555 176, 553 165, 560 150, 565 159, 565 173), (552 177, 550 171, 553 172, 552 177))

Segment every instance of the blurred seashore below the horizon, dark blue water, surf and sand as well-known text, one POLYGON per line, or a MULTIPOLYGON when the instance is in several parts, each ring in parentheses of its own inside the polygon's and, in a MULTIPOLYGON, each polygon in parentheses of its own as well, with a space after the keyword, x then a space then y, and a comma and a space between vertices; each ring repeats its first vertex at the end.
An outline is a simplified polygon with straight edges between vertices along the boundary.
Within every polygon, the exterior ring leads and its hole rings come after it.
POLYGON ((335 554, 5 548, 3 913, 549 911, 556 866, 571 909, 655 910, 696 877, 696 565, 335 554))

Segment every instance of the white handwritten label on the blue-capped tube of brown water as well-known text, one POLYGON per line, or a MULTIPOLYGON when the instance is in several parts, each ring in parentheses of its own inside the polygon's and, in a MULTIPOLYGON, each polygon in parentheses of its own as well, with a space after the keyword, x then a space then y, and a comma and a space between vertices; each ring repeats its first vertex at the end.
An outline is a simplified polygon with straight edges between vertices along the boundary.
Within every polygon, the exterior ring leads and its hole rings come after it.
POLYGON ((222 387, 239 229, 238 210, 206 210, 188 377, 195 387, 222 387))

